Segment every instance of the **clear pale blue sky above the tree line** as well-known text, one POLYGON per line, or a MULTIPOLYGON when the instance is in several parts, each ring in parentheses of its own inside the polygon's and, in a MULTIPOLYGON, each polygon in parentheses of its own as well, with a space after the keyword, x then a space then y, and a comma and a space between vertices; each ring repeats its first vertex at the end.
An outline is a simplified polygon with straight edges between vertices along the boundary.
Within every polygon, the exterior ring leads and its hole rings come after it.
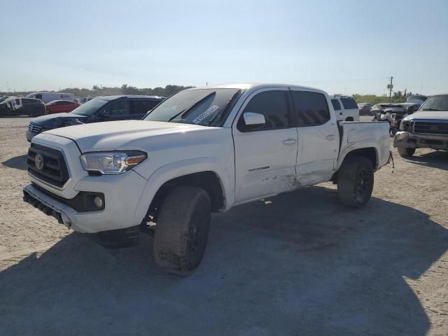
POLYGON ((0 90, 276 82, 448 92, 448 0, 0 0, 0 90), (8 82, 8 83, 7 83, 8 82))

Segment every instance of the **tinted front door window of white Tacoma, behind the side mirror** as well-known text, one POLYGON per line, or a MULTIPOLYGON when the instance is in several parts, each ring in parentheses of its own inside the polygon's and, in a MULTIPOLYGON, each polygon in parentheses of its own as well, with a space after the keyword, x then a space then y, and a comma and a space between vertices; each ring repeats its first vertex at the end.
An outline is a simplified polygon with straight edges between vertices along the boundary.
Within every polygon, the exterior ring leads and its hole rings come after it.
MULTIPOLYGON (((244 108, 243 113, 253 112, 265 116, 265 127, 260 130, 276 130, 289 126, 288 102, 286 102, 286 91, 265 91, 255 94, 244 108)), ((238 130, 243 130, 244 117, 238 120, 238 130)))

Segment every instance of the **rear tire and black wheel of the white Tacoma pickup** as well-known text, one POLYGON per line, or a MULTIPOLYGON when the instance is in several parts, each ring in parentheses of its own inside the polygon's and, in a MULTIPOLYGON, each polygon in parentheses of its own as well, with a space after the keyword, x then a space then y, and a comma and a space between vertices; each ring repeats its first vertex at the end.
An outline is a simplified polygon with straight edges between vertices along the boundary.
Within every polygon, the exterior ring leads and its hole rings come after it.
POLYGON ((346 158, 337 173, 337 195, 350 207, 363 207, 370 200, 373 190, 373 168, 363 156, 346 158))

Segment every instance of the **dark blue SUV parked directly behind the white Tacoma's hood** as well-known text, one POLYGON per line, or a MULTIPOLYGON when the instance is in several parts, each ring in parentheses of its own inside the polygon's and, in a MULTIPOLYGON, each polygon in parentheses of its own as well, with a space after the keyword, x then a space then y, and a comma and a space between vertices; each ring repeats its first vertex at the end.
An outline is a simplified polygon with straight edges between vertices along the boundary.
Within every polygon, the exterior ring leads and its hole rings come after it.
POLYGON ((31 141, 37 134, 59 127, 114 120, 139 120, 163 99, 157 96, 138 95, 97 97, 70 113, 49 114, 31 119, 27 140, 31 141))

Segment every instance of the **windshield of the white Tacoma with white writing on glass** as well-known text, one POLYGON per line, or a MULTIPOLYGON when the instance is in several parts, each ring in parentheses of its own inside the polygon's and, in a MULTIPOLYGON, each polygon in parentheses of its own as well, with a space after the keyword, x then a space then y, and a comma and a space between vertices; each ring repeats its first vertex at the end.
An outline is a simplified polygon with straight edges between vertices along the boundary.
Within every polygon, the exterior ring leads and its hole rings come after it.
POLYGON ((239 89, 224 88, 181 91, 159 104, 144 120, 222 127, 240 93, 239 89))

